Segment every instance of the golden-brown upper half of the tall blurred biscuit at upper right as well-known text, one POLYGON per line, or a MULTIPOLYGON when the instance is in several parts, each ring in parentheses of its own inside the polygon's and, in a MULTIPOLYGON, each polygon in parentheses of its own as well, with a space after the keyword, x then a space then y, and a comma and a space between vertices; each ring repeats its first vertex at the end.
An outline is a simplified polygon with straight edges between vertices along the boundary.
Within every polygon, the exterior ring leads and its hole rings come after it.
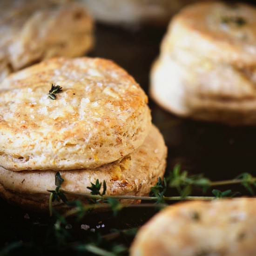
POLYGON ((242 3, 200 2, 175 16, 167 37, 172 46, 218 61, 255 64, 256 8, 242 3))

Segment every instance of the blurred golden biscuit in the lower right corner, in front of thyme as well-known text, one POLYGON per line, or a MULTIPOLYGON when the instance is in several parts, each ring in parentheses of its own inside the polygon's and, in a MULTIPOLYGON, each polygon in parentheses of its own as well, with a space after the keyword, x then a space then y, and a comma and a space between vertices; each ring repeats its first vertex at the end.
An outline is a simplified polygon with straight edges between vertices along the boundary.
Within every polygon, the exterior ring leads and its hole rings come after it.
POLYGON ((256 254, 256 198, 168 206, 135 237, 131 256, 256 254))

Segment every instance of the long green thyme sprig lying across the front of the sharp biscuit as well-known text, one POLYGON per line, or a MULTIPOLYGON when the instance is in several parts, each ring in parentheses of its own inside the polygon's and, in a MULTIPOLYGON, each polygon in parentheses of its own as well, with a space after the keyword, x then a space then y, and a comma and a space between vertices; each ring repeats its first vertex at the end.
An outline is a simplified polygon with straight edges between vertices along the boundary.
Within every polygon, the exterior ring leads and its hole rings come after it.
POLYGON ((106 195, 107 185, 106 182, 100 182, 98 179, 95 183, 91 182, 91 186, 87 187, 91 190, 90 193, 75 193, 61 189, 61 184, 63 178, 60 173, 55 175, 55 190, 50 190, 49 198, 49 211, 52 215, 52 202, 57 200, 62 201, 67 205, 73 207, 67 213, 69 215, 77 215, 81 219, 86 212, 93 209, 111 209, 116 216, 118 212, 123 208, 129 207, 155 207, 155 202, 165 206, 166 201, 180 201, 180 200, 214 200, 216 198, 223 197, 233 197, 238 195, 237 192, 232 192, 230 189, 221 192, 220 190, 213 189, 212 193, 214 196, 192 196, 193 188, 200 188, 202 192, 206 192, 210 187, 224 186, 229 184, 241 184, 245 189, 249 191, 251 195, 254 195, 254 188, 256 188, 256 177, 253 177, 249 173, 242 173, 238 175, 235 179, 226 181, 211 181, 210 179, 204 177, 202 174, 199 175, 189 175, 187 171, 181 171, 180 165, 175 165, 173 171, 164 178, 158 178, 155 186, 151 187, 149 196, 136 196, 136 195, 106 195), (102 185, 103 184, 103 185, 102 185), (102 189, 101 189, 102 188, 102 189), (167 196, 166 191, 168 188, 175 188, 179 192, 179 196, 167 196), (101 192, 102 190, 102 192, 101 192), (65 195, 78 195, 88 199, 88 204, 83 204, 80 201, 68 202, 65 195), (153 203, 143 204, 143 205, 129 205, 121 203, 120 200, 142 200, 150 201, 153 203))

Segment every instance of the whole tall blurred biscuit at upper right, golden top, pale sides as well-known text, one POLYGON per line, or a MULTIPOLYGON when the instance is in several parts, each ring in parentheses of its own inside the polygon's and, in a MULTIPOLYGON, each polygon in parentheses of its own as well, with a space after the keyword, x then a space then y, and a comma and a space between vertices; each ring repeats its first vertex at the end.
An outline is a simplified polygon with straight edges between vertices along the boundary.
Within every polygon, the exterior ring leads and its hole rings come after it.
POLYGON ((177 115, 256 124, 256 8, 205 1, 171 21, 150 94, 177 115))

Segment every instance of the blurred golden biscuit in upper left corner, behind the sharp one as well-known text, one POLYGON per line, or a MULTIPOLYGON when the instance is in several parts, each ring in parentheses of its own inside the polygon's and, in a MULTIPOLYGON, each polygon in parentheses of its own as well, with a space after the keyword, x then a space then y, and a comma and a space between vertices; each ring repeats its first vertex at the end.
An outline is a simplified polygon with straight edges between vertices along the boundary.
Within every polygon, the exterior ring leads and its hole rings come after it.
POLYGON ((0 81, 35 62, 81 56, 93 46, 93 20, 87 10, 60 2, 0 1, 0 81))

